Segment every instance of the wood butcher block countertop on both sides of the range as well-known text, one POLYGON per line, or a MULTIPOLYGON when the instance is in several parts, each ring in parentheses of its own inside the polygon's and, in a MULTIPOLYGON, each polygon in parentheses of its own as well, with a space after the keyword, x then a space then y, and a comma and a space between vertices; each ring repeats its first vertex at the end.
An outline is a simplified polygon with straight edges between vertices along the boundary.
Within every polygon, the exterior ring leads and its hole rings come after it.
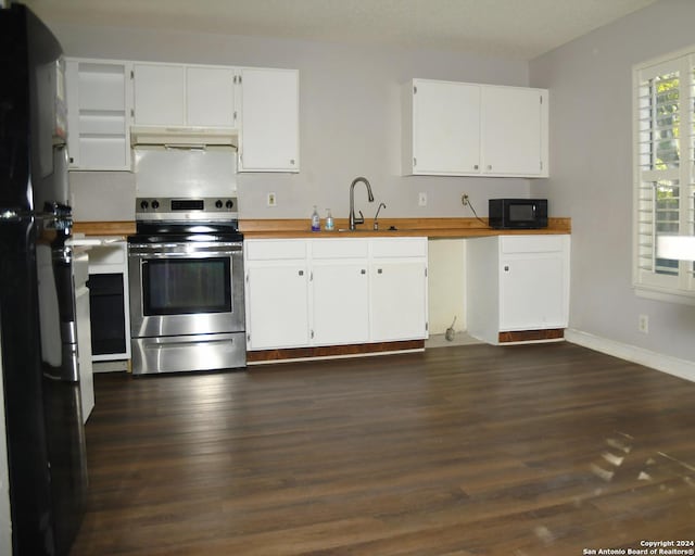
MULTIPOLYGON (((321 220, 321 226, 324 220, 321 220)), ((477 238, 500 235, 548 235, 570 233, 570 218, 549 218, 548 227, 539 230, 495 230, 477 218, 383 218, 379 229, 372 229, 372 220, 348 229, 348 218, 336 218, 336 230, 312 231, 308 218, 296 219, 242 219, 239 229, 244 239, 254 238, 351 238, 351 237, 422 237, 428 238, 477 238), (395 229, 390 229, 390 228, 395 229)), ((86 236, 129 236, 135 233, 135 222, 76 222, 73 231, 86 236)))

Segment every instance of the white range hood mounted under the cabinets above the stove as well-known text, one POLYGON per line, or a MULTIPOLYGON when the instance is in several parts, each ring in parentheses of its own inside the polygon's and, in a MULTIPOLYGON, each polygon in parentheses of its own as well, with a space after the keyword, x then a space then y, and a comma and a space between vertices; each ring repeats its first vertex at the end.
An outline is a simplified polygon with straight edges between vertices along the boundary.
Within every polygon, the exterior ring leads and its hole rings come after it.
POLYGON ((210 127, 156 127, 132 126, 130 128, 130 144, 164 146, 181 149, 222 146, 237 148, 239 135, 237 129, 210 127))

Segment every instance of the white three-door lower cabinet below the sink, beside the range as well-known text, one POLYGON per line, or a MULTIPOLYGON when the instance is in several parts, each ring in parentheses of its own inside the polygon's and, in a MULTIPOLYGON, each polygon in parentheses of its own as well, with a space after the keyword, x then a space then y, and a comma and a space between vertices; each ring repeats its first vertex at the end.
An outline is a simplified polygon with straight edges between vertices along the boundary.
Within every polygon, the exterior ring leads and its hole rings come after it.
POLYGON ((427 337, 427 238, 244 244, 249 350, 427 337))

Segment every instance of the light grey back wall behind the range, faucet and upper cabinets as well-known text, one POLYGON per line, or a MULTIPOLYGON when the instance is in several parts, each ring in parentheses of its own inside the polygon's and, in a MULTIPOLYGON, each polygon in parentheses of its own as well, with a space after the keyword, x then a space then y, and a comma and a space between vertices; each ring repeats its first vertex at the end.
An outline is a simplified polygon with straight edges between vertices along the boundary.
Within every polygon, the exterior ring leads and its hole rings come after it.
MULTIPOLYGON (((49 26, 67 55, 162 62, 292 67, 300 70, 301 173, 240 175, 240 214, 253 218, 308 219, 314 204, 348 217, 349 186, 366 176, 375 203, 356 191, 365 217, 386 202, 383 217, 472 216, 460 204, 470 195, 479 214, 490 197, 529 194, 526 179, 401 177, 401 84, 413 77, 528 85, 525 62, 460 53, 339 46, 241 36, 124 28, 49 26), (278 206, 266 207, 266 193, 278 206), (417 194, 428 194, 428 206, 417 194)), ((77 220, 132 219, 132 175, 73 174, 77 220)))

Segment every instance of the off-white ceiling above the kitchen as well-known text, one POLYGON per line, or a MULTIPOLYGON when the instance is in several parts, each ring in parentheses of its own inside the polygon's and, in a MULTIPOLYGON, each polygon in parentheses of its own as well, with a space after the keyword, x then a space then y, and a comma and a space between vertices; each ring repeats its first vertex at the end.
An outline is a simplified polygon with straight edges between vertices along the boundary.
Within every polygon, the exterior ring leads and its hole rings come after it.
POLYGON ((49 23, 532 60, 656 0, 25 0, 49 23))

